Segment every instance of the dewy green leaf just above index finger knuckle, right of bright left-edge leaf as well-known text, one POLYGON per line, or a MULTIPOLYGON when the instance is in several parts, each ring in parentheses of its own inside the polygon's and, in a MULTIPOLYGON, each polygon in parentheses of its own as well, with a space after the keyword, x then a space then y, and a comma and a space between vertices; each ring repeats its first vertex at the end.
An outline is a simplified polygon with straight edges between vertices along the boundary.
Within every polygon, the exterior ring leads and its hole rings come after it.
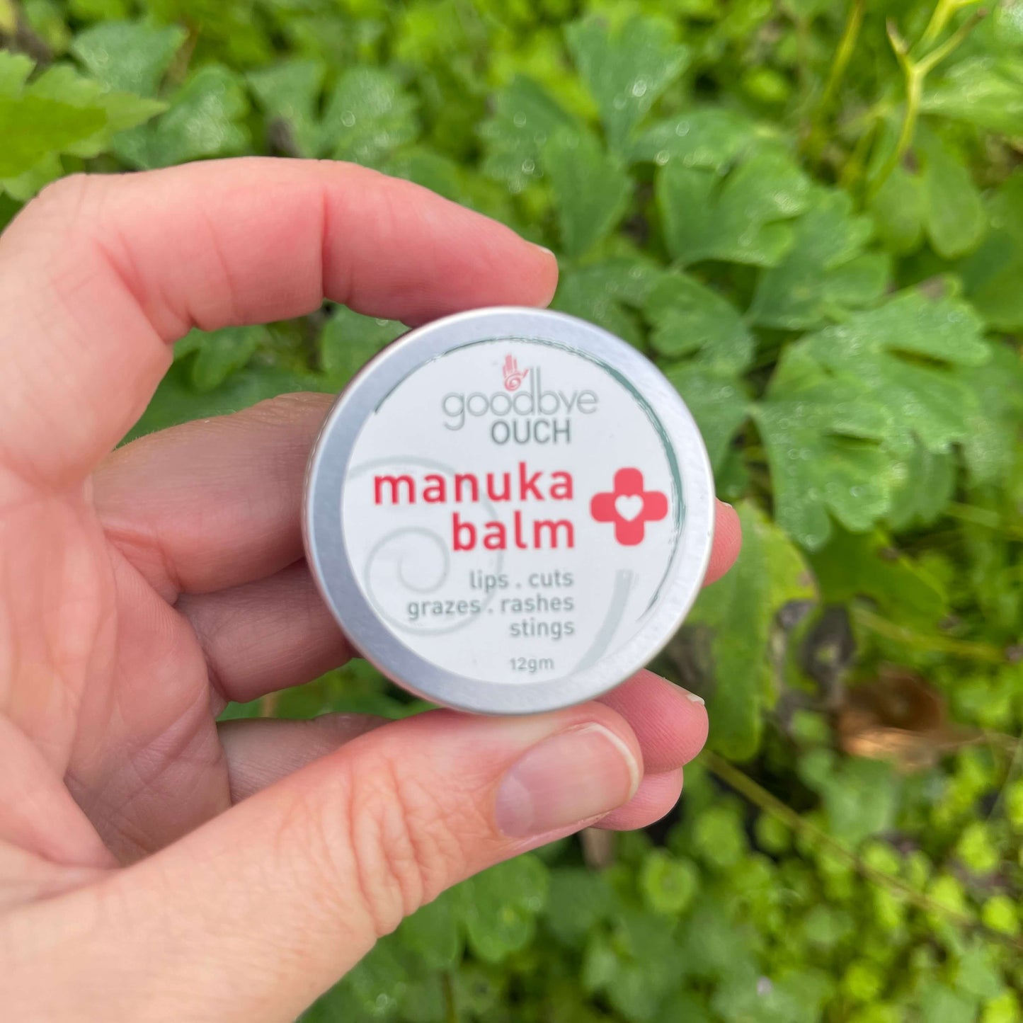
POLYGON ((251 143, 243 123, 248 113, 240 77, 220 64, 207 64, 189 75, 155 125, 122 136, 115 148, 142 168, 233 155, 251 143))

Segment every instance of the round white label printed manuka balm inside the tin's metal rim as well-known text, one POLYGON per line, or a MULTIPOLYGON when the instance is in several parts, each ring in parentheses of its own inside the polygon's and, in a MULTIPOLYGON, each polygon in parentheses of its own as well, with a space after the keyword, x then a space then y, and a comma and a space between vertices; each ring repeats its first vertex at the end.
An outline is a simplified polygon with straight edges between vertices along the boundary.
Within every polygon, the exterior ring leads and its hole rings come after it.
POLYGON ((395 387, 359 432, 340 510, 396 639, 508 683, 573 674, 630 639, 684 518, 643 396, 588 355, 520 338, 456 348, 395 387))

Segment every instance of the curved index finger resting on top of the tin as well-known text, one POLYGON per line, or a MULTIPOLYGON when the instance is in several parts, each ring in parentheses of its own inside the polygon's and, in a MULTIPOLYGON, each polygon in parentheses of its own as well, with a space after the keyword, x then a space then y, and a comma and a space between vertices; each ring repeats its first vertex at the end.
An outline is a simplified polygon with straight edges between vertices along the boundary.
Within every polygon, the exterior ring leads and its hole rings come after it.
POLYGON ((192 326, 285 319, 324 298, 416 323, 545 305, 551 254, 408 181, 246 158, 47 188, 0 236, 0 464, 85 477, 192 326))

